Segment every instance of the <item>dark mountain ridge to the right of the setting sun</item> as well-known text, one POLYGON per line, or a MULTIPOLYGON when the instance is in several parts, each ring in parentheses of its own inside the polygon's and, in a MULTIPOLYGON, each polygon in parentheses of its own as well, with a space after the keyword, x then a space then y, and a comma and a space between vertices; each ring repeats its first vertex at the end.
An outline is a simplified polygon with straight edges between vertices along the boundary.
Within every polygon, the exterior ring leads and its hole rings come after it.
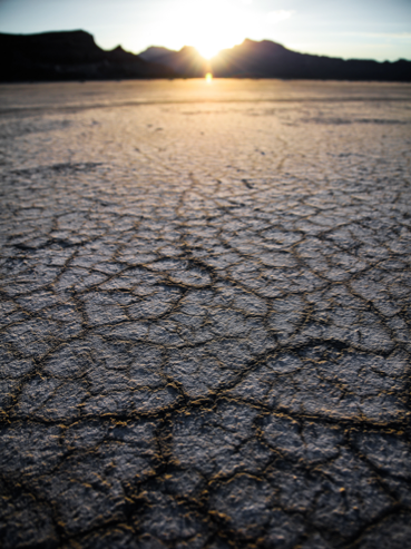
POLYGON ((312 56, 270 40, 244 40, 212 59, 216 77, 309 78, 330 80, 411 81, 411 61, 395 62, 312 56))

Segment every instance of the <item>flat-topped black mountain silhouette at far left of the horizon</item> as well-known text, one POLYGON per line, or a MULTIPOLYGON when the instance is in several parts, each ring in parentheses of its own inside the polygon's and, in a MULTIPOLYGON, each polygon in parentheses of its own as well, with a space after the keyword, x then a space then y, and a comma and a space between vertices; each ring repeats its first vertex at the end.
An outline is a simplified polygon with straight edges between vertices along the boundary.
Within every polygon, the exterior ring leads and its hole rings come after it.
POLYGON ((0 81, 168 78, 168 67, 145 61, 120 46, 99 48, 82 30, 41 35, 0 33, 0 81))

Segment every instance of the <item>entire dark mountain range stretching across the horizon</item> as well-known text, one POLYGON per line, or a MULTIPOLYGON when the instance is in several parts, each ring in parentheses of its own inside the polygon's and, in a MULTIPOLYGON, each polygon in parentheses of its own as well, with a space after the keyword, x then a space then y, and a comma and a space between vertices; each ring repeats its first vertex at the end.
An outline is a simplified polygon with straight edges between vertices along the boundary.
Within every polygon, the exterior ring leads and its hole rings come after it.
POLYGON ((82 30, 40 35, 0 33, 0 81, 108 80, 133 78, 294 78, 411 81, 411 61, 313 56, 280 43, 244 40, 206 61, 195 48, 150 47, 139 55, 120 46, 106 51, 82 30))

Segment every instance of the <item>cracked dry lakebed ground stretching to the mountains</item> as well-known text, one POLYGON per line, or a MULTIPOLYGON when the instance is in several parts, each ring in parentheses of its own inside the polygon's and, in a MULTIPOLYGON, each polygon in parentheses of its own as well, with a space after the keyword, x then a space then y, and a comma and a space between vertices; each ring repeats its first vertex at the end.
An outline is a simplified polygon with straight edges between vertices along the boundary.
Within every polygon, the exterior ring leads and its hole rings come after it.
POLYGON ((411 547, 411 86, 0 97, 1 547, 411 547))

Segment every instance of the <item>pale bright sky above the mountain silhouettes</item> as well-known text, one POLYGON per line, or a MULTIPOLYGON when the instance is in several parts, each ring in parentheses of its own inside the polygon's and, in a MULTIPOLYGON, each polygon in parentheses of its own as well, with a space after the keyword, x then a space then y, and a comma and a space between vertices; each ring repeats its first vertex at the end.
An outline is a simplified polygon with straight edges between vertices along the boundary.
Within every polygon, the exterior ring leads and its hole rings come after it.
POLYGON ((0 0, 0 32, 74 29, 135 53, 194 46, 211 57, 249 38, 344 59, 411 59, 411 0, 0 0))

